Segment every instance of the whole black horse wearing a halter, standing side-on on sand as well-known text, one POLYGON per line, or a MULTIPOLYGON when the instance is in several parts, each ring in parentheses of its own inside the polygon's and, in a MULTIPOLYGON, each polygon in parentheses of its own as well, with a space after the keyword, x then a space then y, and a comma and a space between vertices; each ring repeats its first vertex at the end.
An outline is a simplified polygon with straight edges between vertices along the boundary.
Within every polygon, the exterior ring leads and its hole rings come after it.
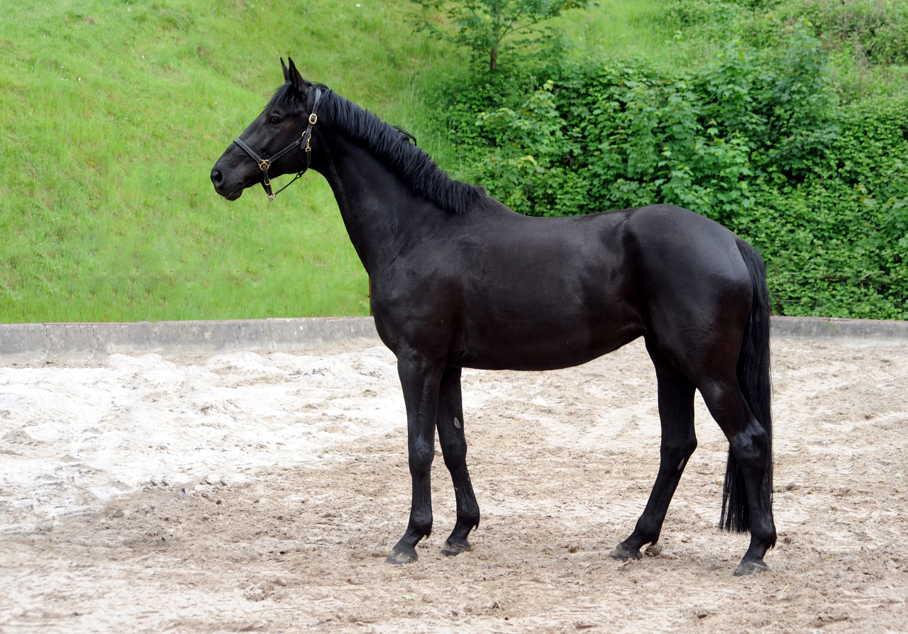
POLYGON ((292 60, 281 66, 284 84, 215 163, 212 183, 228 200, 260 183, 272 197, 269 169, 299 176, 311 164, 331 184, 406 401, 412 506, 388 561, 416 560, 432 529, 436 430, 457 498, 442 552, 471 548, 479 506, 462 368, 566 368, 642 336, 656 366, 661 463, 646 510, 612 556, 638 559, 658 540, 696 448, 699 390, 729 442, 720 526, 751 533, 735 575, 765 570, 775 545, 769 296, 753 247, 668 204, 574 218, 514 213, 449 179, 376 115, 304 80, 292 60))

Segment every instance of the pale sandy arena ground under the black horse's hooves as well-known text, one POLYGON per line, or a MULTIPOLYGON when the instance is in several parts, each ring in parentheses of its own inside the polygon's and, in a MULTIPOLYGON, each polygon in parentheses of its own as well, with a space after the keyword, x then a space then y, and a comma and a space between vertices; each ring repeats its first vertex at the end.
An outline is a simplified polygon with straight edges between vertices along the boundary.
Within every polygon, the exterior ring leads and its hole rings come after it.
POLYGON ((445 558, 435 462, 420 559, 403 402, 374 342, 0 370, 3 632, 908 631, 908 348, 774 342, 770 571, 716 530, 727 443, 699 448, 661 553, 607 553, 656 475, 642 344, 548 373, 465 371, 474 550, 445 558))

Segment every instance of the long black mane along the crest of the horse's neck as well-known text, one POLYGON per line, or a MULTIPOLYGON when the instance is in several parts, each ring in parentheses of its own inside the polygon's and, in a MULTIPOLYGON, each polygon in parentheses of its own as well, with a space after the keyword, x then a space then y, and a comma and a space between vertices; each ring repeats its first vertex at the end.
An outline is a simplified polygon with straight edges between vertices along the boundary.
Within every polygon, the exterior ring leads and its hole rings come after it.
MULTIPOLYGON (((329 90, 324 84, 315 84, 315 87, 322 91, 317 110, 320 122, 324 121, 353 143, 369 150, 413 193, 454 213, 464 213, 470 204, 486 195, 482 187, 450 178, 429 154, 410 143, 412 135, 386 124, 377 115, 329 90)), ((304 112, 306 104, 291 82, 286 82, 275 91, 271 104, 281 105, 294 114, 309 114, 304 112)))

